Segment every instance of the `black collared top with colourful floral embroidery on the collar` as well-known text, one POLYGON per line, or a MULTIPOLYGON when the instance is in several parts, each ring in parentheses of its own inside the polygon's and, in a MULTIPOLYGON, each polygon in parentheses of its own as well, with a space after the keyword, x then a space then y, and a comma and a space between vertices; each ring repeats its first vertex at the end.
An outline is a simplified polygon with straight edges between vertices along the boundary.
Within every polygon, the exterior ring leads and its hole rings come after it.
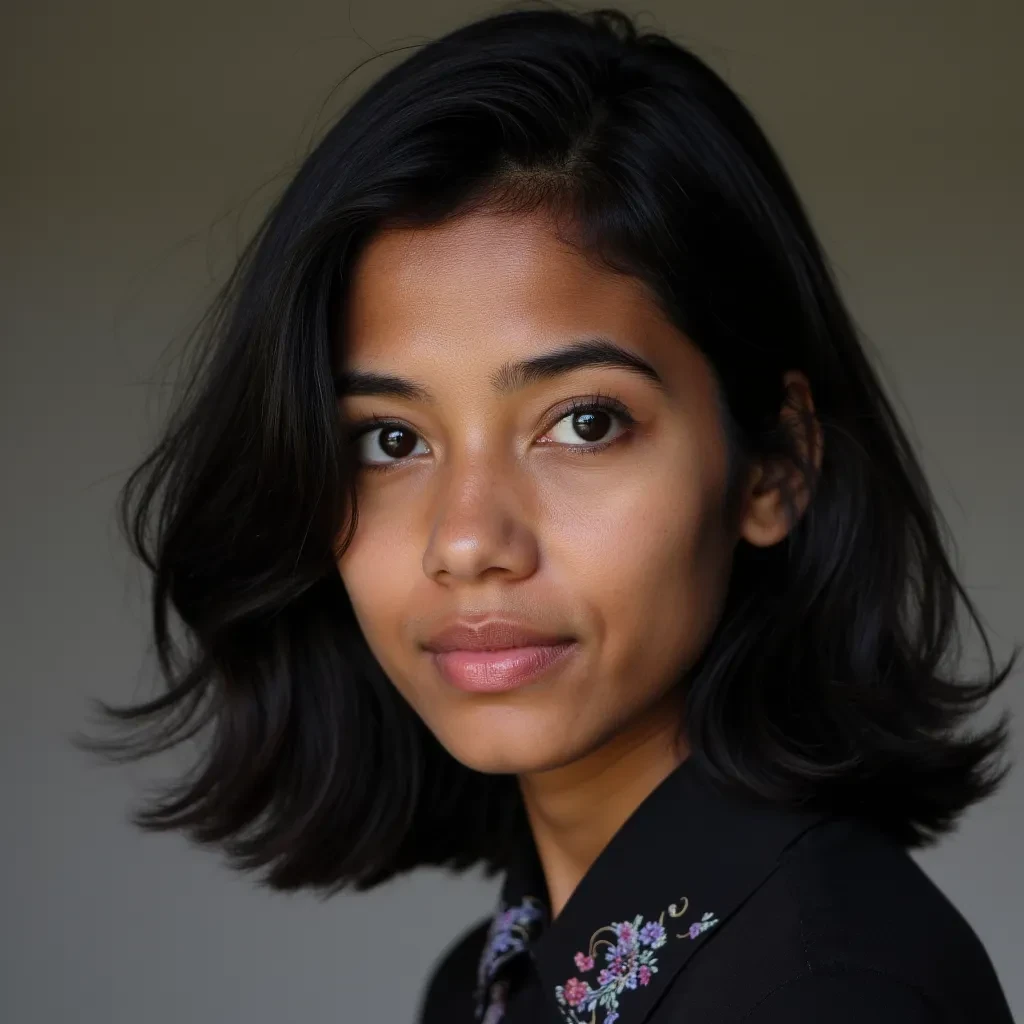
POLYGON ((956 908, 871 825, 684 761, 555 922, 532 843, 442 954, 421 1024, 1012 1024, 956 908))

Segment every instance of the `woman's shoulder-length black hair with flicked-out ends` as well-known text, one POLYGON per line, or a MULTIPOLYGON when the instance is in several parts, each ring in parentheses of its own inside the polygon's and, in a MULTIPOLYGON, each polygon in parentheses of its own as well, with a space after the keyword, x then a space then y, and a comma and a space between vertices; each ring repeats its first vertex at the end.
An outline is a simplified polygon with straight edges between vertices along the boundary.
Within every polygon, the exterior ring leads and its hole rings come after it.
POLYGON ((458 763, 385 677, 336 555, 355 528, 338 315, 389 224, 545 208, 649 289, 717 375, 737 458, 812 485, 783 542, 739 543, 686 675, 692 756, 723 785, 869 819, 923 846, 999 784, 1008 677, 948 529, 798 196, 735 93, 615 10, 505 10, 417 49, 327 131, 200 324, 201 358, 119 506, 152 570, 166 687, 97 701, 129 760, 198 738, 133 820, 222 849, 271 888, 365 889, 421 864, 503 867, 516 780, 458 763), (780 424, 803 371, 819 472, 780 424), (964 678, 957 612, 987 670, 964 678), (175 632, 181 628, 181 637, 175 632))

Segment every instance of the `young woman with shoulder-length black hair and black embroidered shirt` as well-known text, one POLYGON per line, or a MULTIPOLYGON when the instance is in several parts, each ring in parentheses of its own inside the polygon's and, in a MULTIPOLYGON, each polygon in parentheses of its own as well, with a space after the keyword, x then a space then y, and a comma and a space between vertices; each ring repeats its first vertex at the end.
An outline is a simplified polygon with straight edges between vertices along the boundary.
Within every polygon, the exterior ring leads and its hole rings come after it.
POLYGON ((956 727, 1017 651, 941 667, 981 624, 921 467, 695 56, 613 11, 422 48, 208 328, 124 494, 168 690, 111 749, 206 736, 140 824, 279 890, 502 871, 425 1024, 1010 1021, 907 851, 1005 776, 956 727))

